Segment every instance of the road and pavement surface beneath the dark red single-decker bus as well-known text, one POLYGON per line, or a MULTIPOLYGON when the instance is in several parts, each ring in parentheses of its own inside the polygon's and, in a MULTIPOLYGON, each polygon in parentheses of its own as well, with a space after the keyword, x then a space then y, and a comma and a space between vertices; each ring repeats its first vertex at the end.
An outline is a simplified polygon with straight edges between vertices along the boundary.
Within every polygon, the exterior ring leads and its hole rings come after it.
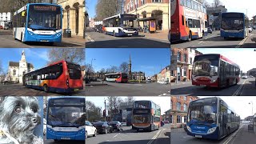
POLYGON ((173 96, 255 96, 254 78, 241 79, 238 85, 221 89, 206 86, 194 86, 192 82, 171 83, 170 94, 173 96))

